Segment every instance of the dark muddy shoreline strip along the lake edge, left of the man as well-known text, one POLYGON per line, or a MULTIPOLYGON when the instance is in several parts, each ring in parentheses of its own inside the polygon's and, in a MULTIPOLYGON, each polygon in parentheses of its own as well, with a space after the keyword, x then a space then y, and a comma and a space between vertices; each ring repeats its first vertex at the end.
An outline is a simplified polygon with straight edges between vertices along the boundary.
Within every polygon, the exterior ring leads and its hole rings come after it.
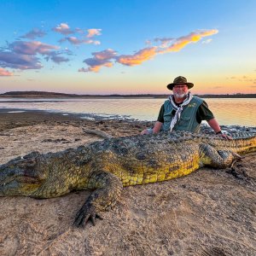
POLYGON ((52 113, 44 110, 26 110, 20 112, 19 108, 0 109, 0 131, 13 129, 16 127, 31 125, 60 125, 62 123, 72 126, 83 126, 88 129, 98 129, 108 132, 111 130, 112 136, 136 135, 153 122, 139 121, 131 119, 84 119, 84 114, 72 113, 52 113), (10 112, 9 112, 10 111, 10 112))

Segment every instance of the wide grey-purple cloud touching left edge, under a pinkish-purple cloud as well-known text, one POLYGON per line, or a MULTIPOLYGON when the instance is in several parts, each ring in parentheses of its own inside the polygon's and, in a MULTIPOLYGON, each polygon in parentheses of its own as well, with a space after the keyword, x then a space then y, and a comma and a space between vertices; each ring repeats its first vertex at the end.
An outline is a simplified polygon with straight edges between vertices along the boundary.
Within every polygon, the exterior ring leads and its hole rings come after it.
POLYGON ((17 69, 39 69, 42 68, 38 57, 32 55, 21 55, 13 52, 0 51, 0 67, 11 67, 17 69))

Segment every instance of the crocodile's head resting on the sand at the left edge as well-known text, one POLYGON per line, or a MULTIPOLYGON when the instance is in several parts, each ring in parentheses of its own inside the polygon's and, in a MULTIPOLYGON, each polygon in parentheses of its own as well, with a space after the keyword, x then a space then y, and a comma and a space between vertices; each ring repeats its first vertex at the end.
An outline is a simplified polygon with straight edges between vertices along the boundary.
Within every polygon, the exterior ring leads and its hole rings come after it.
POLYGON ((38 152, 15 158, 0 166, 0 196, 31 195, 47 177, 48 171, 44 168, 42 154, 38 152))

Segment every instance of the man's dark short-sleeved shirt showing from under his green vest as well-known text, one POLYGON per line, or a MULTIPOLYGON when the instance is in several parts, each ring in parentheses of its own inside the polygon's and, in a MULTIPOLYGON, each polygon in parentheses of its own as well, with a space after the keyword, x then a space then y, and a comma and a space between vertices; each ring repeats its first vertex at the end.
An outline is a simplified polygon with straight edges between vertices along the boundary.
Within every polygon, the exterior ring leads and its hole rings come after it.
MULTIPOLYGON (((177 104, 177 107, 178 107, 178 105, 180 105, 180 104, 177 104)), ((175 110, 173 110, 173 111, 174 111, 174 113, 172 113, 172 114, 174 115, 175 110)), ((160 113, 159 113, 158 119, 157 119, 160 123, 164 123, 164 112, 165 112, 165 108, 164 108, 164 104, 163 104, 162 107, 160 108, 160 113)), ((208 108, 207 102, 203 101, 196 112, 196 120, 199 124, 201 124, 202 120, 209 121, 211 119, 214 119, 213 113, 208 108)))

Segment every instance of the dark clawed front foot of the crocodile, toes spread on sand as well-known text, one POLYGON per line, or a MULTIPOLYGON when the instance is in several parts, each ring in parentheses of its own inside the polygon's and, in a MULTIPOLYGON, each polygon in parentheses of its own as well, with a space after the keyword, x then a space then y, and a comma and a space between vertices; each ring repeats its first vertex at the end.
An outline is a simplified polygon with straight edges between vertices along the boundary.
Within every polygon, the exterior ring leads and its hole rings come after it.
POLYGON ((76 227, 84 227, 84 225, 90 220, 95 226, 96 218, 103 219, 98 213, 96 213, 96 209, 93 205, 85 203, 77 213, 73 225, 76 227))

